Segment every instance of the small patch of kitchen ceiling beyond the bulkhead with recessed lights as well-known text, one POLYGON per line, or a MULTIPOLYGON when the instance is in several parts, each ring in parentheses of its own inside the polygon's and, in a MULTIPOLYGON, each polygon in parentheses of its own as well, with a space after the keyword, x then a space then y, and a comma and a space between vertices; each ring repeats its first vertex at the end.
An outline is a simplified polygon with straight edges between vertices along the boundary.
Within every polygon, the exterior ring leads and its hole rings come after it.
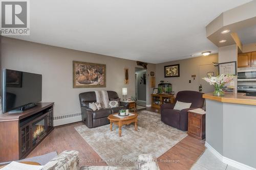
POLYGON ((239 30, 237 33, 242 44, 256 43, 256 25, 239 30))

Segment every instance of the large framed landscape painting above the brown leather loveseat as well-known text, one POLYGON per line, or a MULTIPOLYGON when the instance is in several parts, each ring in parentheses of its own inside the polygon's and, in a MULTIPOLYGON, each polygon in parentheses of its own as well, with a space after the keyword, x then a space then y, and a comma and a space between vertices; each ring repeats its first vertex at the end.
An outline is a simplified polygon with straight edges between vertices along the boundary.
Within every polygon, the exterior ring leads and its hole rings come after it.
POLYGON ((73 61, 73 88, 106 87, 106 65, 73 61))

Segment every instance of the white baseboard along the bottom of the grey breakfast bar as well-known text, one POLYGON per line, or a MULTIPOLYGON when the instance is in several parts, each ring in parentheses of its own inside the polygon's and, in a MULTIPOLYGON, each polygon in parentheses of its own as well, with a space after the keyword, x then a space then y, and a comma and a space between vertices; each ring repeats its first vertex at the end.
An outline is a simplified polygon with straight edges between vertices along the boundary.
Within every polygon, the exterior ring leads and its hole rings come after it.
POLYGON ((240 163, 238 161, 229 159, 225 156, 222 156, 218 151, 216 151, 214 148, 211 147, 211 145, 207 142, 205 142, 205 147, 212 153, 214 154, 219 160, 221 160, 223 163, 226 163, 230 166, 236 167, 238 169, 243 169, 243 170, 256 170, 256 168, 248 166, 246 164, 240 163))

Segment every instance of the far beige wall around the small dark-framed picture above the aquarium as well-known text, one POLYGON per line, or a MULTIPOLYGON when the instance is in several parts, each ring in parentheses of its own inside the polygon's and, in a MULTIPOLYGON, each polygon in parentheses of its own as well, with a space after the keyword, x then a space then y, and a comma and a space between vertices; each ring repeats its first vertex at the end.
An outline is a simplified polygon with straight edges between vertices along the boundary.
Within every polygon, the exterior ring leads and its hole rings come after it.
POLYGON ((156 83, 159 84, 161 80, 168 81, 172 83, 173 91, 176 93, 182 90, 198 91, 198 67, 199 65, 211 64, 212 62, 218 62, 218 54, 157 64, 156 83), (173 64, 180 64, 180 77, 164 78, 164 66, 173 64), (193 80, 191 75, 197 75, 196 79, 193 80), (191 83, 188 82, 189 80, 191 80, 191 83))

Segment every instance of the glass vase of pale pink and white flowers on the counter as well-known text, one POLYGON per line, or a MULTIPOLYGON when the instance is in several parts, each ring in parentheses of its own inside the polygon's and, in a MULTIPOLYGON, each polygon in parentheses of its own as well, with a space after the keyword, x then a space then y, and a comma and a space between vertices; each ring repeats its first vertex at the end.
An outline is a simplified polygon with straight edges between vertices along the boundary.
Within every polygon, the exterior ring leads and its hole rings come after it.
POLYGON ((223 96, 224 95, 223 87, 225 86, 225 84, 231 82, 235 77, 236 76, 233 76, 233 75, 222 74, 217 77, 209 77, 209 78, 206 77, 203 79, 206 82, 208 82, 210 85, 214 85, 214 95, 223 96))

